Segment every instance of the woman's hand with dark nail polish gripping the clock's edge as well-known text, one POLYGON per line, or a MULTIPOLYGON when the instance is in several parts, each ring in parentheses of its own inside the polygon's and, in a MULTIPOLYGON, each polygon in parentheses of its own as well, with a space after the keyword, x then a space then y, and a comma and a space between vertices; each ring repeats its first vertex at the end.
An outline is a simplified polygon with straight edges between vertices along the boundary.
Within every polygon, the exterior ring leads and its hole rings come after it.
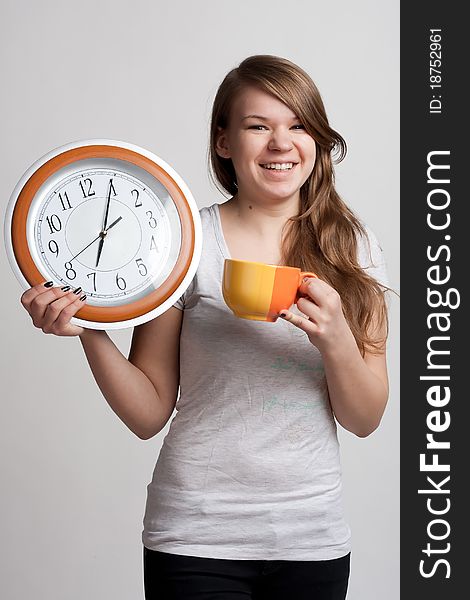
MULTIPOLYGON (((48 282, 49 285, 51 283, 48 282)), ((73 290, 67 287, 49 287, 40 283, 21 296, 21 304, 28 311, 33 324, 44 333, 74 336, 84 332, 83 327, 72 325, 70 319, 85 305, 86 295, 81 288, 73 290)))

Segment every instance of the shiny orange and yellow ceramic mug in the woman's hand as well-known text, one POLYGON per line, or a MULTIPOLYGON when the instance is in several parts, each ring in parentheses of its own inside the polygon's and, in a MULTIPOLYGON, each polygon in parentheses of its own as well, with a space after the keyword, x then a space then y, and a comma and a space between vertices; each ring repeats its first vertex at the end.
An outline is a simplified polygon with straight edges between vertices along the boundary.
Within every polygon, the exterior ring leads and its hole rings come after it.
POLYGON ((222 294, 235 316, 274 322, 283 308, 290 308, 299 299, 304 277, 316 275, 297 267, 227 258, 222 294))

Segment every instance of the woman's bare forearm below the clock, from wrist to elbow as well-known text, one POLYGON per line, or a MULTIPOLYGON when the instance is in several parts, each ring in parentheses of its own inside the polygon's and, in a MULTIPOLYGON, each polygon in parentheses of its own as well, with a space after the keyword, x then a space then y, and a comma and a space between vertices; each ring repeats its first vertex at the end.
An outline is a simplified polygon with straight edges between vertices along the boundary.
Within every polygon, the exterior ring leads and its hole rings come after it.
POLYGON ((165 424, 165 411, 148 377, 130 363, 105 331, 87 329, 80 335, 98 387, 123 423, 147 439, 165 424))

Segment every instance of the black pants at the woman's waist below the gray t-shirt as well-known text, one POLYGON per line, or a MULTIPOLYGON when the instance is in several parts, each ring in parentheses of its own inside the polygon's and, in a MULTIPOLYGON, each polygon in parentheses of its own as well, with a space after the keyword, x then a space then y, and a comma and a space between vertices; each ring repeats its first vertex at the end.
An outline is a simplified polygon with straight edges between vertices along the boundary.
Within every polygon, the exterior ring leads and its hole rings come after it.
POLYGON ((344 600, 347 554, 333 560, 228 560, 144 546, 146 600, 344 600))

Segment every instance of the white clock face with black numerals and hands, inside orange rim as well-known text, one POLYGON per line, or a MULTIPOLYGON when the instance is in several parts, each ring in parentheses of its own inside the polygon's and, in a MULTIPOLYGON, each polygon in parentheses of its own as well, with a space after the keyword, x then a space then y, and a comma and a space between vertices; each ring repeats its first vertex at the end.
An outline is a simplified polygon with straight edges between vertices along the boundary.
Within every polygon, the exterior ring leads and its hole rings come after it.
POLYGON ((181 246, 176 207, 146 171, 118 159, 86 159, 36 194, 28 245, 44 276, 112 306, 156 289, 181 246))

